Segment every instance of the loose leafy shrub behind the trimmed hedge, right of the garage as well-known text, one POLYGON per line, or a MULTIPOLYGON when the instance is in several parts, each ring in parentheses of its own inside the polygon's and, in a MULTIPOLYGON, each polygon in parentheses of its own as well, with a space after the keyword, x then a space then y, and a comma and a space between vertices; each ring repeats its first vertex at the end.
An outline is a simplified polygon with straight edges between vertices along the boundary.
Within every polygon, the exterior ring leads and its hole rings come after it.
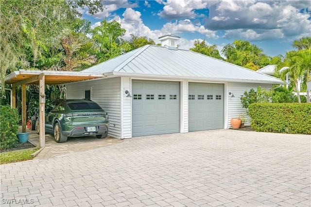
POLYGON ((244 94, 240 99, 242 107, 247 110, 249 104, 271 102, 272 90, 266 90, 265 88, 262 89, 261 86, 258 86, 257 91, 255 91, 254 88, 251 88, 248 92, 244 91, 244 94))

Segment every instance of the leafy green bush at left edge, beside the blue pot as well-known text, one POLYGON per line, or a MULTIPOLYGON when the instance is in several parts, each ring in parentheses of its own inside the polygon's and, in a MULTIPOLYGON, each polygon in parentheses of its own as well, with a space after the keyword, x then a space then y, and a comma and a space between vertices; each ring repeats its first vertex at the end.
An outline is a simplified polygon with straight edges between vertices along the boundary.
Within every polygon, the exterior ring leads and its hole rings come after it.
POLYGON ((7 149, 18 144, 18 112, 9 105, 0 106, 0 148, 7 149))

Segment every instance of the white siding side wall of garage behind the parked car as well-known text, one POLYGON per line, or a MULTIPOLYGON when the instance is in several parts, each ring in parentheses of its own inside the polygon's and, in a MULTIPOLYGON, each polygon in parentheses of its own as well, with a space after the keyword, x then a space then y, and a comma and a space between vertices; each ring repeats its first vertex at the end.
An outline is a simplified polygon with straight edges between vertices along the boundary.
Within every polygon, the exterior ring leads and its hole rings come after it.
POLYGON ((85 90, 91 89, 91 100, 98 103, 109 115, 109 133, 121 136, 121 78, 107 78, 67 85, 68 99, 84 99, 85 90))

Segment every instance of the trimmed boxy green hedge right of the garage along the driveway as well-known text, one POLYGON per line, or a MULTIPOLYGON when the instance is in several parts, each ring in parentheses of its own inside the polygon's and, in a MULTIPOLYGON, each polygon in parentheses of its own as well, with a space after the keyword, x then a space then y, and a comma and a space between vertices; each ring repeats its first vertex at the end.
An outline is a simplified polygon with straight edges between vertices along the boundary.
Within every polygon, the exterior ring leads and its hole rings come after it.
POLYGON ((249 105, 248 115, 258 132, 311 134, 311 104, 255 103, 249 105))

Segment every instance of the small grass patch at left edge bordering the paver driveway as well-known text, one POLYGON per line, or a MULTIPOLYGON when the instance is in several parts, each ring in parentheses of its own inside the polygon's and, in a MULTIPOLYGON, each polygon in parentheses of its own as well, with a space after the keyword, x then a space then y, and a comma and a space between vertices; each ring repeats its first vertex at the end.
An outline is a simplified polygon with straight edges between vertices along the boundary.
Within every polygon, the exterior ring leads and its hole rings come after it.
POLYGON ((0 164, 20 162, 20 161, 33 159, 34 157, 32 157, 31 154, 35 153, 39 149, 40 149, 39 147, 36 147, 36 148, 31 148, 31 149, 1 153, 0 164))

